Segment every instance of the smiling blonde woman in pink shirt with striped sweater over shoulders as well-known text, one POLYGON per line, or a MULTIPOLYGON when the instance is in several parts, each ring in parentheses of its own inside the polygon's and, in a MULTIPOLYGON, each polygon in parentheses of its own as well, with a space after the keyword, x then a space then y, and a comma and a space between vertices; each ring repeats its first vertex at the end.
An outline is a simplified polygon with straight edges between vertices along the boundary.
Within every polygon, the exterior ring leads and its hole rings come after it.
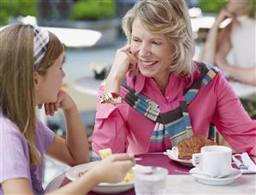
POLYGON ((181 1, 140 1, 123 18, 128 44, 99 89, 94 151, 165 151, 192 135, 214 137, 256 155, 256 121, 217 69, 193 62, 188 8, 181 1))

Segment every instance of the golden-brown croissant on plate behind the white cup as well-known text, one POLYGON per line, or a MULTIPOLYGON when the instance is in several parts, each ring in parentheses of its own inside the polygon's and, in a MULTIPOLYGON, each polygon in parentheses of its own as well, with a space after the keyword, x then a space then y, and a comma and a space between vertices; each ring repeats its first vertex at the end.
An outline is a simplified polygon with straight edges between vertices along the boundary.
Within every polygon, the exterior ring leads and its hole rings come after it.
POLYGON ((182 160, 190 160, 192 155, 199 153, 201 147, 205 145, 217 145, 217 143, 202 136, 192 136, 183 139, 176 145, 176 157, 182 160))

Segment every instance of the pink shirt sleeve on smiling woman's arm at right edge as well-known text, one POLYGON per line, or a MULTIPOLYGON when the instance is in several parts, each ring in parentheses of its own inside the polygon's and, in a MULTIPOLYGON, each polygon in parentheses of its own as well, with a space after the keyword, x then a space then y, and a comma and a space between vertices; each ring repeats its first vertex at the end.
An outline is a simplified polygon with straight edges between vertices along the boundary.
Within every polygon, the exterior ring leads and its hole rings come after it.
POLYGON ((229 82, 221 74, 217 74, 215 92, 217 108, 213 122, 217 130, 235 151, 247 151, 256 156, 256 121, 247 115, 229 82))

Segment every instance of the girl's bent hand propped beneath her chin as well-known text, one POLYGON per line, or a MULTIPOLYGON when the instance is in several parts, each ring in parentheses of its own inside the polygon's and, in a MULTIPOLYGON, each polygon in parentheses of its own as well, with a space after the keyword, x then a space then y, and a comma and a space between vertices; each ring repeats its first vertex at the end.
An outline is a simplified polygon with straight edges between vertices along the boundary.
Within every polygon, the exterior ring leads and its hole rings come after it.
MULTIPOLYGON (((45 115, 54 115, 58 109, 71 109, 75 106, 73 99, 68 95, 67 92, 62 89, 57 94, 57 101, 55 103, 44 103, 45 115)), ((39 104, 39 109, 42 108, 42 104, 39 104)))

